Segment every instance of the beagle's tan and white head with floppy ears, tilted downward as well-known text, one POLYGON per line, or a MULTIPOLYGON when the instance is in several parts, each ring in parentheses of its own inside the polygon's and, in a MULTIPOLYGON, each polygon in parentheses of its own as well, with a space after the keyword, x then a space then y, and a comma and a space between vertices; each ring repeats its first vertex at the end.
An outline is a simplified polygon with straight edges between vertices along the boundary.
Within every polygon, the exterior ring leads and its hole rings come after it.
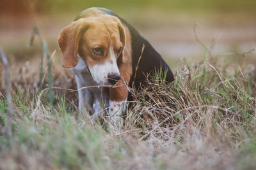
POLYGON ((125 28, 117 17, 101 15, 81 18, 65 27, 59 36, 61 66, 75 67, 79 55, 98 85, 120 80, 117 60, 125 48, 125 28))

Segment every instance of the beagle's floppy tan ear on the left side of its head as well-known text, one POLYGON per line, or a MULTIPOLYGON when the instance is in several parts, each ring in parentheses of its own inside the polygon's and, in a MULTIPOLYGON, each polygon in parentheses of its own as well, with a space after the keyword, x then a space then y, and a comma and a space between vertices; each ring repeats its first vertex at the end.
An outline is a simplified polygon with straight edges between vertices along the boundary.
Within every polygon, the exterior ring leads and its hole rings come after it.
POLYGON ((79 41, 88 27, 86 20, 81 18, 62 29, 58 39, 63 54, 61 66, 70 68, 77 65, 79 41))

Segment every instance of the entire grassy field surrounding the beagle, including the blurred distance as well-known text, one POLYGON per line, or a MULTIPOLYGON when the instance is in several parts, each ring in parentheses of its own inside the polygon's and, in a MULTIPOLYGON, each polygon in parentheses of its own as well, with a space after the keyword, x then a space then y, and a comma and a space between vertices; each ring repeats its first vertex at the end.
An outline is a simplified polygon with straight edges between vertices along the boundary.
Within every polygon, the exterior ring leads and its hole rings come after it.
POLYGON ((256 169, 256 1, 4 1, 13 111, 0 59, 0 169, 256 169), (58 34, 90 6, 125 18, 175 73, 130 89, 120 132, 77 111, 74 74, 60 66, 58 34), (28 47, 34 26, 49 48, 43 74, 40 39, 28 47))

